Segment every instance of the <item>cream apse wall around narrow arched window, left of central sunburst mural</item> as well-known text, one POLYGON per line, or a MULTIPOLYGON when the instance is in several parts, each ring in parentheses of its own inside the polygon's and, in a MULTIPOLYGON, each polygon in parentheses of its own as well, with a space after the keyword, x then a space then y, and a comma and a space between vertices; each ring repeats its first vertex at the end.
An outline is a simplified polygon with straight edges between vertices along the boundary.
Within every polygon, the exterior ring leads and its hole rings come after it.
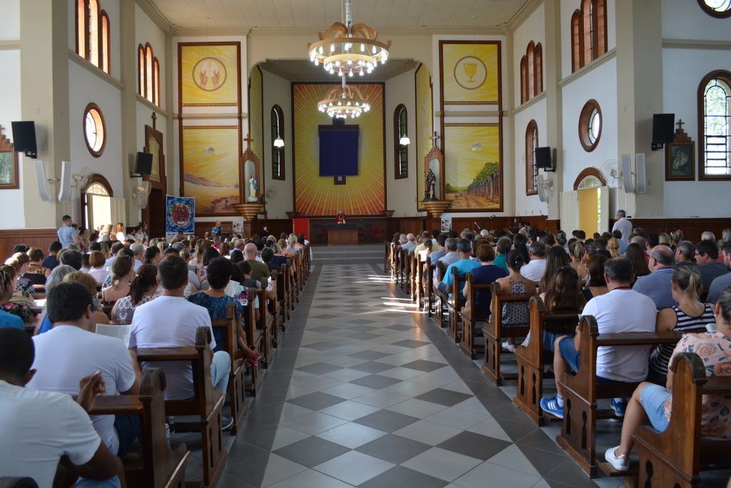
MULTIPOLYGON (((292 200, 292 185, 295 175, 292 172, 292 89, 289 80, 262 70, 262 96, 264 123, 262 124, 264 141, 262 153, 257 154, 262 162, 264 174, 264 192, 267 202, 268 218, 287 218, 287 212, 294 210, 292 200), (272 137, 271 137, 271 110, 278 104, 284 113, 284 180, 272 179, 272 137)), ((244 146, 246 148, 246 146, 244 146)))

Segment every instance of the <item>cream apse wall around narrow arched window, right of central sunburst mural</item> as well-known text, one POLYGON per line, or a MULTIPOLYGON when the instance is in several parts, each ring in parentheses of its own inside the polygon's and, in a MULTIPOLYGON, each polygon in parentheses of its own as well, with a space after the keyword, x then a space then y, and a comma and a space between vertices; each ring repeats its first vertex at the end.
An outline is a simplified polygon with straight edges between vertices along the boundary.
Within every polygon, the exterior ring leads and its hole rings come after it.
MULTIPOLYGON (((424 68, 425 69, 425 68, 424 68)), ((416 153, 416 94, 414 92, 415 70, 387 80, 385 86, 385 133, 386 133, 386 197, 387 210, 394 210, 394 217, 417 215, 416 194, 417 178, 423 178, 417 168, 416 153), (395 154, 393 148, 393 113, 398 104, 406 106, 407 135, 411 144, 409 154, 409 178, 395 179, 395 154)))

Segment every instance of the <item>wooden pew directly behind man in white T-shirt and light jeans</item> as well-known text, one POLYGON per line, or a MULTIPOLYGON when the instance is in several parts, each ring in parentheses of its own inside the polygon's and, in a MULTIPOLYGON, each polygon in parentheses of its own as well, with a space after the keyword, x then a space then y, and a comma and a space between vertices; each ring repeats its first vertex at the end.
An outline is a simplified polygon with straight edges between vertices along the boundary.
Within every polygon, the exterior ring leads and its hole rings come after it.
MULTIPOLYGON (((195 346, 174 348, 137 348, 140 362, 181 362, 188 361, 193 367, 193 387, 195 395, 189 400, 165 400, 165 415, 197 416, 198 422, 176 423, 181 427, 200 430, 203 456, 203 488, 214 487, 221 477, 228 453, 221 445, 221 408, 224 396, 211 384, 210 348, 211 329, 199 327, 195 346)), ((134 486, 134 485, 131 485, 134 486)))

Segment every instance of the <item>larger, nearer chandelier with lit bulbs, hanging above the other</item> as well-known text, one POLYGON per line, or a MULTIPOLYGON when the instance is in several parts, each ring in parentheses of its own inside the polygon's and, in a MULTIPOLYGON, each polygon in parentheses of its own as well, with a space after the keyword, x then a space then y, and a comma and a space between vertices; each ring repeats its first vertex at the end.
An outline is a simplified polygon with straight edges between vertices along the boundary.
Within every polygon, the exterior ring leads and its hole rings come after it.
POLYGON ((363 76, 386 64, 391 42, 380 42, 378 33, 364 23, 352 25, 351 0, 345 0, 345 23, 333 23, 319 33, 319 41, 307 45, 310 61, 322 64, 330 75, 363 76))

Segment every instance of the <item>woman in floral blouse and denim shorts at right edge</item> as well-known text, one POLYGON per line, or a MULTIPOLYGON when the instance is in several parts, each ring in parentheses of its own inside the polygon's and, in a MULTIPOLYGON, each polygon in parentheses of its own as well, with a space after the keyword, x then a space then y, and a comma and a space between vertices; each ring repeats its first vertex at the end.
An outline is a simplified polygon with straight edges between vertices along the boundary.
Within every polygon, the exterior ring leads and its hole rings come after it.
MULTIPOLYGON (((731 375, 731 288, 725 289, 713 315, 713 332, 687 333, 673 349, 669 364, 678 354, 693 352, 700 356, 707 376, 731 375)), ((629 454, 635 445, 632 435, 649 420, 652 427, 664 432, 673 415, 673 373, 667 372, 665 386, 643 382, 629 400, 619 446, 607 449, 605 459, 616 470, 629 470, 629 454)), ((731 400, 723 395, 704 394, 702 397, 700 435, 706 440, 731 439, 731 400)))

